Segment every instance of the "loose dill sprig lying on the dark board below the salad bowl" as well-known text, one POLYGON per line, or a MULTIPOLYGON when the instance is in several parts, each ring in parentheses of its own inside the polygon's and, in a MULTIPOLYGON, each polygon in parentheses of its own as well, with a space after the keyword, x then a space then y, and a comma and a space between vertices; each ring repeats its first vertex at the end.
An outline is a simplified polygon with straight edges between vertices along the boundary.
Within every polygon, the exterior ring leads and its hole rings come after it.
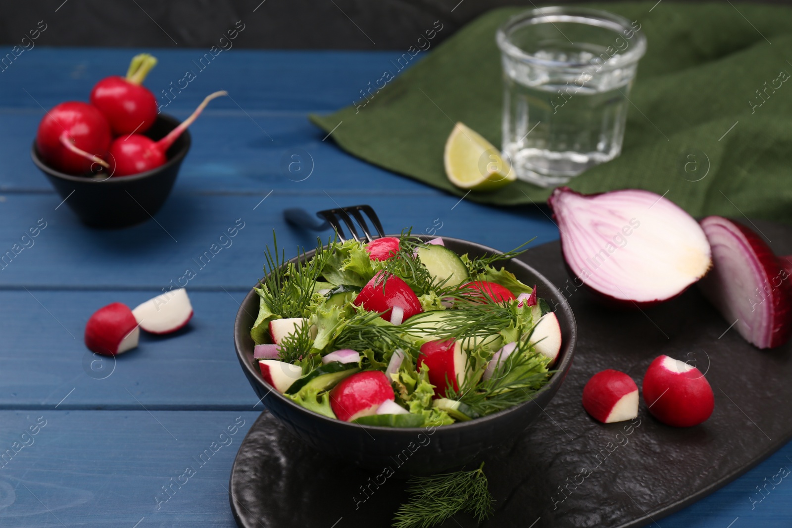
POLYGON ((467 511, 479 522, 493 511, 484 463, 473 471, 413 477, 408 481, 409 501, 399 506, 394 528, 428 528, 444 522, 459 511, 467 511))

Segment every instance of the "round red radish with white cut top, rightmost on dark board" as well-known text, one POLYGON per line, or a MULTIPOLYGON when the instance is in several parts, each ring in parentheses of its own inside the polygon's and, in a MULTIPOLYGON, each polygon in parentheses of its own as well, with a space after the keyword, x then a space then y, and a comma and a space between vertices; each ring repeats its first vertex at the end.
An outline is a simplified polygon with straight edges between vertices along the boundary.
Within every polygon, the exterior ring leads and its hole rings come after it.
POLYGON ((715 407, 712 387, 704 374, 668 355, 657 357, 649 365, 642 389, 649 412, 674 427, 701 424, 715 407))

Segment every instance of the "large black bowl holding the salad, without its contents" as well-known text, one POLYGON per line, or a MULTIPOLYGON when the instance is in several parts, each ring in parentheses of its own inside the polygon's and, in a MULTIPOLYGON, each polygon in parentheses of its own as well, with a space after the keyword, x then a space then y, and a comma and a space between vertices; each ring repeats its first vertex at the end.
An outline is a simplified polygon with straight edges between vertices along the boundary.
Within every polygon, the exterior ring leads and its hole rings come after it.
MULTIPOLYGON (((428 240, 431 237, 421 238, 428 240)), ((459 254, 481 256, 483 253, 500 253, 458 238, 443 237, 443 241, 448 249, 459 254)), ((314 251, 307 253, 308 258, 313 255, 314 251)), ((562 351, 554 365, 556 373, 532 401, 476 420, 428 428, 397 429, 348 424, 310 412, 273 390, 261 377, 253 359, 254 344, 250 337, 259 305, 258 295, 253 290, 242 302, 234 322, 234 345, 239 363, 268 411, 288 431, 322 453, 368 469, 382 471, 389 466, 402 476, 437 473, 474 462, 485 451, 510 446, 543 412, 569 371, 577 340, 575 317, 561 291, 520 260, 507 260, 503 265, 524 283, 536 284, 539 296, 551 306, 558 306, 555 313, 561 325, 562 351)))

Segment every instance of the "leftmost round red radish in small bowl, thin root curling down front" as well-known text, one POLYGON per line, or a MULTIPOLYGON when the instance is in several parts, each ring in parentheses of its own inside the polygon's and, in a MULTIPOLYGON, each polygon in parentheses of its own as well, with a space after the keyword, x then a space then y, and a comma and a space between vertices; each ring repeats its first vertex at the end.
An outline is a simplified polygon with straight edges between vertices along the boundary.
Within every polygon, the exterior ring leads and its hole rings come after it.
POLYGON ((105 165, 110 125, 97 108, 68 101, 52 108, 39 123, 36 150, 47 165, 67 174, 87 174, 92 165, 105 165))

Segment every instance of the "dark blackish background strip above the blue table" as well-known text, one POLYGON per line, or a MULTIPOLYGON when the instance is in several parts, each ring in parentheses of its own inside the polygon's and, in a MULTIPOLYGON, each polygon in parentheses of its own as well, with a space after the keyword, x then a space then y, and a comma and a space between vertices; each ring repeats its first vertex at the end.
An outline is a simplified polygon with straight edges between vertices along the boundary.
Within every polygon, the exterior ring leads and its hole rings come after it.
MULTIPOLYGON (((663 0, 668 2, 668 0, 663 0)), ((722 0, 726 2, 728 0, 722 0)), ((211 47, 245 24, 233 45, 268 48, 402 49, 440 21, 440 39, 499 6, 531 0, 43 0, 4 2, 0 44, 19 44, 38 21, 36 45, 211 47), (254 11, 255 9, 255 11, 254 11)), ((540 5, 537 2, 536 5, 540 5)), ((556 0, 558 4, 571 3, 556 0)), ((734 3, 737 3, 736 1, 734 3)), ((768 3, 790 4, 792 0, 768 3)), ((546 5, 546 4, 545 4, 546 5)))

